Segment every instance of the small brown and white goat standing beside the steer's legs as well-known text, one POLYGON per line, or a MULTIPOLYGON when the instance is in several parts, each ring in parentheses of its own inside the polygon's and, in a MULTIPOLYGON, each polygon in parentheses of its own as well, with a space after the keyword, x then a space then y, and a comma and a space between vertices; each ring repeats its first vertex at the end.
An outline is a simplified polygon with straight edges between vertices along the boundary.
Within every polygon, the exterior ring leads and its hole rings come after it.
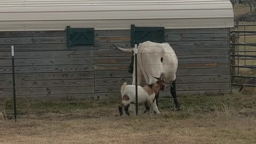
MULTIPOLYGON (((159 91, 164 90, 164 88, 167 85, 164 79, 162 78, 156 78, 156 79, 157 81, 153 84, 138 86, 138 103, 151 104, 153 111, 159 114, 160 111, 158 110, 156 105, 155 95, 158 95, 159 91)), ((121 86, 121 94, 122 94, 122 103, 118 106, 119 113, 122 116, 123 107, 125 107, 124 110, 126 115, 130 115, 128 108, 131 103, 135 104, 136 102, 135 85, 127 85, 127 83, 124 83, 121 86)))

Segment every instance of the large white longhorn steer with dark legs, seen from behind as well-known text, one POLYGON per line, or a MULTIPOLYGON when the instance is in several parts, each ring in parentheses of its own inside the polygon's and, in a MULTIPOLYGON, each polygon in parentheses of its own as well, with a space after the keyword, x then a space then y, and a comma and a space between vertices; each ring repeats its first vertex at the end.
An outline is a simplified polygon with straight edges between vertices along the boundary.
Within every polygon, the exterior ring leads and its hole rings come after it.
MULTIPOLYGON (((113 44, 114 45, 114 44, 113 44)), ((132 49, 123 49, 114 45, 119 51, 133 53, 132 49)), ((150 41, 140 43, 138 46, 138 85, 141 84, 142 78, 145 78, 147 84, 153 84, 157 80, 154 77, 165 79, 166 83, 171 82, 171 94, 175 107, 179 109, 180 105, 177 100, 175 79, 178 68, 178 59, 168 43, 153 43, 150 41)), ((135 85, 135 77, 133 77, 135 85)), ((158 94, 156 95, 156 104, 158 106, 158 94)), ((148 111, 146 106, 146 110, 148 111)))

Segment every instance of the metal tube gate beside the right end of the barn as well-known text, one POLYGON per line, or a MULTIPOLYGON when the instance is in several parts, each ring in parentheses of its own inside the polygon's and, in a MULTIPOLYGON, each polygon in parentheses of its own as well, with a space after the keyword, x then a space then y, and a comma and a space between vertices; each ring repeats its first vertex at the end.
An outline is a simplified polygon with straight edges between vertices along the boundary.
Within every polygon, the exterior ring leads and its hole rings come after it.
POLYGON ((232 85, 256 87, 256 25, 235 25, 230 34, 232 85))

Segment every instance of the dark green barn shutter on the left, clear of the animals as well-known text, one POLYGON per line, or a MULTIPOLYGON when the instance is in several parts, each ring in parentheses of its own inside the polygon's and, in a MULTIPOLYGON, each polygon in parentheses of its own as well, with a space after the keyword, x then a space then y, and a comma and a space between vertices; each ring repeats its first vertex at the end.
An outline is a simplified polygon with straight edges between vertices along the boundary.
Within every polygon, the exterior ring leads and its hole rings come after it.
POLYGON ((67 26, 68 47, 94 45, 94 28, 70 28, 67 26))

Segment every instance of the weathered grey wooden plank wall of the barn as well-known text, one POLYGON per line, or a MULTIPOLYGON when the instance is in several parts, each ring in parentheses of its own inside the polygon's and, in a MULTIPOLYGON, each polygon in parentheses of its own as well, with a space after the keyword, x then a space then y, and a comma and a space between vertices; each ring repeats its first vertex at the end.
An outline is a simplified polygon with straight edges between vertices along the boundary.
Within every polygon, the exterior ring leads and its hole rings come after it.
MULTIPOLYGON (((167 29, 178 55, 178 93, 229 92, 228 29, 167 29)), ((107 98, 131 83, 130 30, 96 30, 95 45, 67 48, 65 31, 0 32, 0 97, 12 95, 11 45, 17 95, 107 98)), ((169 94, 166 92, 165 94, 169 94)))

